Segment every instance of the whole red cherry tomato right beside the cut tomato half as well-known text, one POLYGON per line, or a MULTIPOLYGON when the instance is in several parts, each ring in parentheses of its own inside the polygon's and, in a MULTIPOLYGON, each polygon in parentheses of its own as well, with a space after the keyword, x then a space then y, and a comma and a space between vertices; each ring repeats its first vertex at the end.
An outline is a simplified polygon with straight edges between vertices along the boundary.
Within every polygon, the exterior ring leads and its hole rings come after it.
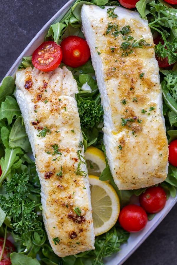
POLYGON ((61 43, 63 62, 70 67, 79 67, 90 58, 90 49, 87 42, 77 36, 69 36, 61 43))

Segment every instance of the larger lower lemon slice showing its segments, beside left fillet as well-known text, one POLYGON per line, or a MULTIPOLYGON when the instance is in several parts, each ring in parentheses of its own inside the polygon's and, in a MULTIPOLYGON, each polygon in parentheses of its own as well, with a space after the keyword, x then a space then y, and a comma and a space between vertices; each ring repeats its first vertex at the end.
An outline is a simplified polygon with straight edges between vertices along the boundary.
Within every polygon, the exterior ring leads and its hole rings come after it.
POLYGON ((97 176, 89 175, 94 233, 99 236, 117 222, 120 212, 119 197, 114 188, 97 176))

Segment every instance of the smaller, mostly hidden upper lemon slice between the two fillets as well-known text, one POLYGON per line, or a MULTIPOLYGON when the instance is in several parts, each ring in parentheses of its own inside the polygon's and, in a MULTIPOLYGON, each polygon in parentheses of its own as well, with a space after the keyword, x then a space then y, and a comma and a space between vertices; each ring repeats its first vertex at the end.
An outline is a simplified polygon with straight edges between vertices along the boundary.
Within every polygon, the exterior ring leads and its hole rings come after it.
POLYGON ((88 173, 100 176, 101 172, 106 167, 104 153, 94 146, 89 146, 84 155, 87 162, 88 173))

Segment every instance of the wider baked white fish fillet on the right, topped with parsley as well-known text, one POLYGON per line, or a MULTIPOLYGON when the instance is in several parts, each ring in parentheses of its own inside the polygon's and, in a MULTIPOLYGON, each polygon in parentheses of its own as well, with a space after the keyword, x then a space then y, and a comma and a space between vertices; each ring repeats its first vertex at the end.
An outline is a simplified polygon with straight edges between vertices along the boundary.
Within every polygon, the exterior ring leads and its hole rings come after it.
POLYGON ((120 190, 165 180, 168 143, 159 68, 148 21, 121 7, 83 5, 83 33, 91 50, 104 108, 104 144, 120 190))

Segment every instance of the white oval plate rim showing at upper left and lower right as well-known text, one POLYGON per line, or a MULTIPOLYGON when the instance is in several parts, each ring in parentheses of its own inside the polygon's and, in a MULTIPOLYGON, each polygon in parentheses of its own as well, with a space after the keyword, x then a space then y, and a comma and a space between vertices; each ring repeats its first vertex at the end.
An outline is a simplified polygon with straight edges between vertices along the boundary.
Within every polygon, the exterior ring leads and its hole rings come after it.
MULTIPOLYGON (((32 39, 32 41, 27 45, 24 51, 20 54, 17 60, 14 62, 12 67, 7 72, 7 75, 12 75, 14 77, 15 72, 24 56, 30 56, 34 50, 44 41, 44 37, 51 24, 59 22, 66 12, 70 9, 75 0, 68 1, 37 33, 37 35, 32 39)), ((113 256, 105 259, 106 265, 121 265, 130 257, 130 255, 145 241, 145 239, 154 231, 154 229, 159 225, 163 218, 168 214, 171 208, 177 202, 177 196, 175 198, 169 198, 166 202, 165 208, 156 214, 153 220, 148 221, 144 230, 139 233, 131 234, 128 239, 128 244, 123 244, 121 251, 113 256)))

